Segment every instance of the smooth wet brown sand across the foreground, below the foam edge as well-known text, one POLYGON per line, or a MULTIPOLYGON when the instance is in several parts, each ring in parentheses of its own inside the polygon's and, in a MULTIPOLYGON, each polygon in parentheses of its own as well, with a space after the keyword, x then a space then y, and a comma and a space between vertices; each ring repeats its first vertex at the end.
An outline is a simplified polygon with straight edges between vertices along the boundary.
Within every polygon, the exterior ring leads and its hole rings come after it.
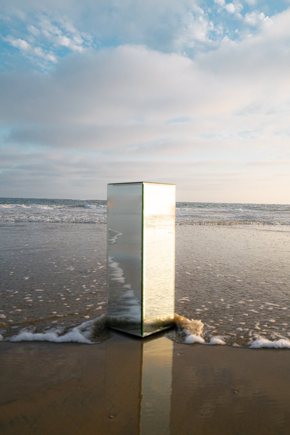
POLYGON ((283 435, 290 352, 112 332, 95 345, 0 343, 0 433, 283 435))

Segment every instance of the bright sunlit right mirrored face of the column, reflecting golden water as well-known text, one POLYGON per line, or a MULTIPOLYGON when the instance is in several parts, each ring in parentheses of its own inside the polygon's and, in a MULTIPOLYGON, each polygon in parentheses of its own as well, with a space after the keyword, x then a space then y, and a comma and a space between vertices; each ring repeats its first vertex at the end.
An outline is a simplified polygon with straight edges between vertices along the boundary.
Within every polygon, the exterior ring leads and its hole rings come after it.
POLYGON ((143 336, 174 324, 175 185, 144 183, 143 336))

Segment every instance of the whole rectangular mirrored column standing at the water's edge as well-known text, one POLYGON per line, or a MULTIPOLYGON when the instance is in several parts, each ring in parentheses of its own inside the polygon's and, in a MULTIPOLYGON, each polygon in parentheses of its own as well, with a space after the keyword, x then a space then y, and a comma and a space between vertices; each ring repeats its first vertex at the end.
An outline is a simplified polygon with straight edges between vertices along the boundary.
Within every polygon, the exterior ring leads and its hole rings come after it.
POLYGON ((108 185, 107 325, 145 336, 174 324, 175 185, 108 185))

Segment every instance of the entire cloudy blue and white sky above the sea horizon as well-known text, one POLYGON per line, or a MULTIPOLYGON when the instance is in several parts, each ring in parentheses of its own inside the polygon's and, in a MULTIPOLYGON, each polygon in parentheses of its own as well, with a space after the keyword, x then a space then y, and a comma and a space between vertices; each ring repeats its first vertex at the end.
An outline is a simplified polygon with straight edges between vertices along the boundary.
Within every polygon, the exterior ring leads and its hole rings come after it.
POLYGON ((290 204, 290 0, 0 0, 0 196, 290 204))

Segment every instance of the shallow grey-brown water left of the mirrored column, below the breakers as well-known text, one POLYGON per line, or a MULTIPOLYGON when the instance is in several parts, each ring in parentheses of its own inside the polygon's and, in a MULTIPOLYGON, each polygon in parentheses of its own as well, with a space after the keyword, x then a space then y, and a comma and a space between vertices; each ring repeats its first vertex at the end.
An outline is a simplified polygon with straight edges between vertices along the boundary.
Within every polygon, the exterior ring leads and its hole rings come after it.
POLYGON ((57 331, 106 311, 106 226, 0 223, 0 333, 57 331))

